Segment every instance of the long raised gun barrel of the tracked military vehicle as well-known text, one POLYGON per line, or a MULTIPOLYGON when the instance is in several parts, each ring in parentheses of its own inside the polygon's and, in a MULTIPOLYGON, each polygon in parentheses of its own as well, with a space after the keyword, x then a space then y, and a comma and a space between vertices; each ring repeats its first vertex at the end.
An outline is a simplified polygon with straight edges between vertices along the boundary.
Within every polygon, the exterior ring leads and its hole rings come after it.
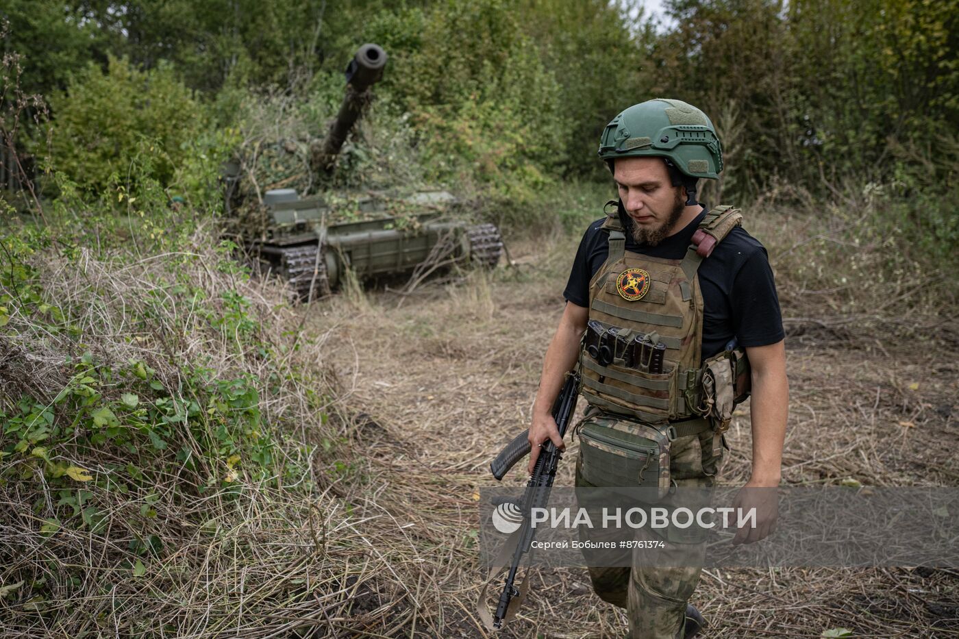
POLYGON ((322 142, 313 146, 310 164, 315 174, 329 176, 346 136, 372 99, 370 87, 383 78, 386 51, 376 44, 364 44, 346 66, 346 94, 339 112, 322 142))

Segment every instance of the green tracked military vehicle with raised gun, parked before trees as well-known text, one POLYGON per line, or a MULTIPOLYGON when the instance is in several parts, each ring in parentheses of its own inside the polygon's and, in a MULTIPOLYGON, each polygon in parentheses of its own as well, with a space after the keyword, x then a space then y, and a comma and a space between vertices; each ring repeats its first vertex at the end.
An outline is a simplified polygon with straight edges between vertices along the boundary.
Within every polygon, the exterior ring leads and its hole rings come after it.
MULTIPOLYGON (((336 170, 343 143, 372 99, 371 87, 383 77, 385 66, 386 52, 376 44, 364 44, 350 60, 337 117, 325 137, 309 148, 316 183, 328 183, 336 170)), ((239 173, 236 164, 225 170, 228 216, 239 173)), ((431 265, 495 267, 503 253, 499 230, 464 221, 456 214, 457 203, 439 189, 321 192, 309 197, 292 188, 269 189, 253 206, 255 222, 246 216, 242 236, 261 272, 288 280, 304 299, 329 295, 346 272, 363 279, 431 265)))

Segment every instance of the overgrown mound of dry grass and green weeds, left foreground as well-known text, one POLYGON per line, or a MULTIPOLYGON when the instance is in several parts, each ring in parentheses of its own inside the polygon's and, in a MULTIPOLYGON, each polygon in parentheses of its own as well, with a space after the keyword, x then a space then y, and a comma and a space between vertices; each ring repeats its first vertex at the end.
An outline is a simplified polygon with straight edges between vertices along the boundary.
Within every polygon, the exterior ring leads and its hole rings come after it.
MULTIPOLYGON (((98 245, 128 225, 102 220, 84 218, 77 244, 59 225, 0 234, 0 564, 7 609, 32 611, 4 627, 29 633, 38 613, 70 634, 117 627, 114 615, 130 635, 174 631, 212 568, 224 586, 201 624, 236 631, 230 564, 288 584, 261 551, 309 536, 311 512, 341 511, 326 482, 362 481, 329 420, 335 378, 283 290, 251 280, 234 246, 197 231, 162 250, 135 225, 123 246, 98 245), (116 605, 102 611, 106 593, 116 605)), ((192 226, 165 222, 163 237, 192 226)), ((332 570, 322 548, 310 557, 311 575, 332 570)), ((241 596, 245 624, 261 623, 241 596)))

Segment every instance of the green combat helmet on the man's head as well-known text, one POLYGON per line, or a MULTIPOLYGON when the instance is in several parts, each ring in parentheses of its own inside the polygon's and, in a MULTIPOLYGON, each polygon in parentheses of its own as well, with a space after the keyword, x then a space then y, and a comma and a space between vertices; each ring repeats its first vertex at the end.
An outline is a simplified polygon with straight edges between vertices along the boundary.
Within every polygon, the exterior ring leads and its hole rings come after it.
POLYGON ((663 157, 673 186, 685 186, 695 204, 696 180, 722 171, 722 146, 713 123, 680 100, 657 98, 633 105, 613 118, 599 138, 599 157, 610 170, 619 157, 663 157))

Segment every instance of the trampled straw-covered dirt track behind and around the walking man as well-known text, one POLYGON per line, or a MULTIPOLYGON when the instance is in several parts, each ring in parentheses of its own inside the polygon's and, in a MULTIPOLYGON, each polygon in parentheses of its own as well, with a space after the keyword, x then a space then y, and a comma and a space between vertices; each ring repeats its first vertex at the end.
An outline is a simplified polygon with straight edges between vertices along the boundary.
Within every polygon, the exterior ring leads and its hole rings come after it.
MULTIPOLYGON (((409 296, 347 291, 314 307, 310 324, 336 363, 345 403, 363 410, 344 428, 366 451, 363 498, 389 513, 385 525, 405 540, 396 561, 415 576, 390 595, 412 611, 394 614, 379 636, 485 636, 473 612, 481 580, 473 493, 494 483, 489 460, 526 428, 574 245, 512 249, 518 269, 409 296)), ((792 325, 787 341, 784 481, 959 484, 953 360, 891 344, 850 349, 813 329, 792 325)), ((740 409, 723 471, 731 485, 749 468, 748 403, 740 409)), ((557 485, 572 485, 572 469, 568 456, 557 485)), ((622 636, 620 612, 587 584, 584 570, 538 575, 507 634, 622 636)), ((707 571, 694 603, 712 620, 707 637, 819 637, 836 627, 856 637, 959 636, 959 573, 949 571, 707 571)))

